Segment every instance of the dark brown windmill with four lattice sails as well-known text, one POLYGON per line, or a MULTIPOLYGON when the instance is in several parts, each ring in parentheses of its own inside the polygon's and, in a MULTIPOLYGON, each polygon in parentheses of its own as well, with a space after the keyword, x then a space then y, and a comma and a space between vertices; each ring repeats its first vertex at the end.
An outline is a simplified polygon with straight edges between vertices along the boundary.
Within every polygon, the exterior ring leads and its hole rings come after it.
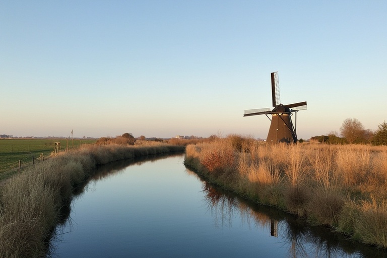
POLYGON ((243 116, 263 115, 265 114, 271 120, 269 134, 266 138, 268 143, 295 143, 297 142, 297 111, 306 109, 306 101, 288 105, 283 105, 280 102, 280 85, 278 82, 278 72, 272 75, 272 108, 248 109, 244 110, 243 116), (295 113, 295 126, 293 125, 291 116, 295 113), (269 114, 272 115, 270 119, 269 114))

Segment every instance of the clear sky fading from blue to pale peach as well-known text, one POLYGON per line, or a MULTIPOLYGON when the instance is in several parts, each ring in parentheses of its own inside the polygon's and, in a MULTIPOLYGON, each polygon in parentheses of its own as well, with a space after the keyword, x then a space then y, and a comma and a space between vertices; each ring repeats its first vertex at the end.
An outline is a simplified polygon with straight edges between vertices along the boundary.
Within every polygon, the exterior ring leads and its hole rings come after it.
POLYGON ((387 1, 0 2, 0 134, 299 138, 387 120, 387 1))

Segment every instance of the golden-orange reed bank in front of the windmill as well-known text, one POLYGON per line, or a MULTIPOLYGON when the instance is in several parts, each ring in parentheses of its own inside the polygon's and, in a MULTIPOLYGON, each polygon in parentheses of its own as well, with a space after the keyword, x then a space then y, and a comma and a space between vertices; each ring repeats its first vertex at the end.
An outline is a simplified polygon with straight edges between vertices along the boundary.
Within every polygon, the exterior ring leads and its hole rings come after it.
POLYGON ((230 136, 188 145, 185 165, 254 202, 387 248, 387 148, 266 145, 230 136))

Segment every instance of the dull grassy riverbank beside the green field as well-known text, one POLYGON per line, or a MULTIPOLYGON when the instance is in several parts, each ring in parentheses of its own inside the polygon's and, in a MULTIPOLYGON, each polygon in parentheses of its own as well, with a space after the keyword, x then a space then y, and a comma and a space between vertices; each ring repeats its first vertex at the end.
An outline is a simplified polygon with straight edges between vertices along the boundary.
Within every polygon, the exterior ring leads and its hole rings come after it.
POLYGON ((0 191, 1 257, 44 256, 61 208, 71 202, 73 191, 94 174, 97 166, 183 150, 171 145, 88 145, 24 170, 0 191))

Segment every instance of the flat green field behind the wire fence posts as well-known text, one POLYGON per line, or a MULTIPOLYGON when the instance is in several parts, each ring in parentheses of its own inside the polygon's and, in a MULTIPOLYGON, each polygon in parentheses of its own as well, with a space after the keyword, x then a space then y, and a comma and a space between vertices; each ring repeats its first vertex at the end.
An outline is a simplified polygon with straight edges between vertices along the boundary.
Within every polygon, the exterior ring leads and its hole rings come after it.
POLYGON ((83 144, 93 144, 96 140, 89 139, 1 139, 0 140, 0 180, 16 173, 19 169, 19 160, 22 168, 32 166, 32 156, 36 160, 43 154, 48 158, 54 151, 54 143, 60 143, 60 150, 66 151, 79 148, 83 144))

